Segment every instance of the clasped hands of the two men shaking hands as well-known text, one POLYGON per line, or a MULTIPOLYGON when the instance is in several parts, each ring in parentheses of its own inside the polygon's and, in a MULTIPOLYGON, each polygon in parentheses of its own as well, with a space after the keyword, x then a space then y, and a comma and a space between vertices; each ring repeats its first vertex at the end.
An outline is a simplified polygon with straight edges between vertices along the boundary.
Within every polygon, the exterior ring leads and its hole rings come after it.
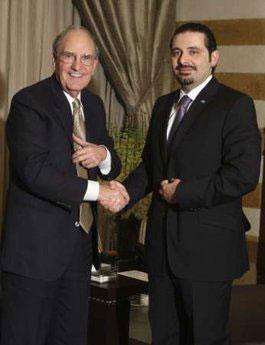
POLYGON ((116 213, 121 211, 130 201, 126 188, 117 181, 99 186, 98 202, 106 210, 116 213))

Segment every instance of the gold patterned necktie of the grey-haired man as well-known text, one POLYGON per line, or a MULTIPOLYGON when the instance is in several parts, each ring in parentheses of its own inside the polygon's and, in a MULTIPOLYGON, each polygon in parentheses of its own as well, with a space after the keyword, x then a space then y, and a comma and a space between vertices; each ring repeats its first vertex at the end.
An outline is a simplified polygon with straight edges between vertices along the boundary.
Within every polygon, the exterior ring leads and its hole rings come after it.
MULTIPOLYGON (((83 114, 81 110, 81 103, 79 99, 73 101, 73 133, 78 138, 86 141, 86 127, 85 121, 83 119, 83 114)), ((74 143, 74 150, 78 150, 80 147, 78 144, 74 143)), ((87 170, 80 164, 76 164, 77 175, 84 179, 88 179, 87 170)), ((93 223, 93 213, 89 202, 83 202, 79 207, 79 224, 85 232, 89 232, 91 225, 93 223)))

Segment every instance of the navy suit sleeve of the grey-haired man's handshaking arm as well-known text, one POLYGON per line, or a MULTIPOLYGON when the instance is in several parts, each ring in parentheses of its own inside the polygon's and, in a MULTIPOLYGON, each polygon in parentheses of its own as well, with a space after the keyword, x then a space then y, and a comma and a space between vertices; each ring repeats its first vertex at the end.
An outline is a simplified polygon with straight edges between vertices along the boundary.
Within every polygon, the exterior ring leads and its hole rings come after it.
POLYGON ((75 206, 82 201, 87 181, 58 171, 53 164, 46 114, 32 109, 28 102, 15 96, 6 133, 11 173, 14 171, 17 183, 40 198, 59 204, 75 206))

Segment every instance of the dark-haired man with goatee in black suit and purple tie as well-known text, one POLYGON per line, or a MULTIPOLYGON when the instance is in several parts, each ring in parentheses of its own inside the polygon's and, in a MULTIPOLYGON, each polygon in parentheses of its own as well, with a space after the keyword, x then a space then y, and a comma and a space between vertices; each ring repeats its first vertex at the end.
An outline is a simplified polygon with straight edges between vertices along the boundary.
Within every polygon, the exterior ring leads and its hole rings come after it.
POLYGON ((232 281, 248 269, 242 196, 259 178, 256 114, 250 97, 213 76, 219 53, 208 27, 180 26, 170 49, 181 89, 157 100, 142 162, 112 187, 127 190, 129 206, 153 192, 152 344, 227 345, 232 281))

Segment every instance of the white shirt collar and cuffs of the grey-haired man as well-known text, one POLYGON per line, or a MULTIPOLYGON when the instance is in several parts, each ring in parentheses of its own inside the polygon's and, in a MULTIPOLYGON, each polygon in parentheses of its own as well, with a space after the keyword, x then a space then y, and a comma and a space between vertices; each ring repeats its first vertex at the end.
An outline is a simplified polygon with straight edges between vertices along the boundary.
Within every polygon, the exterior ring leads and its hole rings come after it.
MULTIPOLYGON (((63 93, 65 94, 65 96, 66 96, 66 98, 67 98, 67 100, 68 100, 68 102, 70 104, 71 111, 72 111, 72 114, 73 114, 73 101, 75 99, 71 95, 69 95, 67 92, 63 91, 63 93)), ((82 115, 83 115, 83 119, 85 120, 84 111, 83 111, 83 105, 82 105, 82 102, 81 102, 81 94, 80 93, 77 96, 77 98, 79 99, 79 101, 81 103, 81 112, 82 112, 82 115)), ((100 169, 100 172, 103 175, 107 175, 110 172, 110 169, 111 169, 111 155, 110 155, 109 150, 106 148, 106 146, 104 146, 104 145, 101 145, 101 146, 103 146, 106 149, 107 156, 104 159, 104 161, 99 163, 98 167, 100 169)), ((86 200, 86 201, 96 201, 98 199, 98 196, 99 196, 99 183, 97 181, 88 180, 87 181, 87 190, 86 190, 86 193, 85 193, 85 196, 84 196, 84 200, 86 200)))

